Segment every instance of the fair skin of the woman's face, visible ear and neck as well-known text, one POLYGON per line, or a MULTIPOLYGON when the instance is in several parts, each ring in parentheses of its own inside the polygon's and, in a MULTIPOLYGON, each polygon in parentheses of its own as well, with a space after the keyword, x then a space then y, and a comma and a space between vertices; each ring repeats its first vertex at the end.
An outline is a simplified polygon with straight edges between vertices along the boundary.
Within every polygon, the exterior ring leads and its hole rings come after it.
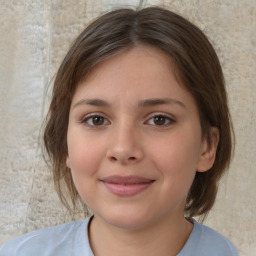
POLYGON ((94 213, 96 256, 180 252, 193 228, 187 193, 215 159, 211 134, 202 139, 196 103, 160 50, 136 46, 94 68, 72 99, 67 166, 94 213))

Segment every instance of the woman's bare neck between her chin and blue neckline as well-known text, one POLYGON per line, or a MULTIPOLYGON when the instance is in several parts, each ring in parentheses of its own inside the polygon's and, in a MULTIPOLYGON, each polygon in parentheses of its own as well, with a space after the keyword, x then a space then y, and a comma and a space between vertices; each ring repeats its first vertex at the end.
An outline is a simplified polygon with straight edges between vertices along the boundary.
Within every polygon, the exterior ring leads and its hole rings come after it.
POLYGON ((147 227, 127 230, 94 216, 89 240, 95 256, 171 256, 181 251, 192 229, 193 224, 183 217, 161 219, 147 227))

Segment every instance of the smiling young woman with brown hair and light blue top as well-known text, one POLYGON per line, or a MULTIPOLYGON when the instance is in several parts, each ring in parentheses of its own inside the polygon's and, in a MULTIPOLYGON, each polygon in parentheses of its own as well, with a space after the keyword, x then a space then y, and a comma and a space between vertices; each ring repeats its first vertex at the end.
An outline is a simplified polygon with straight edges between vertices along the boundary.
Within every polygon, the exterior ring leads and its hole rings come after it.
POLYGON ((1 256, 238 255, 193 219, 214 204, 232 124, 218 57, 181 16, 119 9, 91 23, 58 70, 44 142, 64 204, 93 215, 1 256))

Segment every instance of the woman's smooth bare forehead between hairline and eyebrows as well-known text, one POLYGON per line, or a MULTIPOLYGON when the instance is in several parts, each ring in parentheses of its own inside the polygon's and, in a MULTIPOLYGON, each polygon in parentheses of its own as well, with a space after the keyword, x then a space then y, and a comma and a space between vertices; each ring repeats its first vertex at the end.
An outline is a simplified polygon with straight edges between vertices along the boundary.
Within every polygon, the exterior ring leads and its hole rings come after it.
POLYGON ((113 90, 116 93, 146 95, 167 91, 184 91, 177 80, 176 69, 171 57, 162 50, 139 45, 99 63, 90 74, 78 84, 78 91, 88 95, 97 93, 105 96, 113 90), (86 88, 85 88, 86 87, 86 88))

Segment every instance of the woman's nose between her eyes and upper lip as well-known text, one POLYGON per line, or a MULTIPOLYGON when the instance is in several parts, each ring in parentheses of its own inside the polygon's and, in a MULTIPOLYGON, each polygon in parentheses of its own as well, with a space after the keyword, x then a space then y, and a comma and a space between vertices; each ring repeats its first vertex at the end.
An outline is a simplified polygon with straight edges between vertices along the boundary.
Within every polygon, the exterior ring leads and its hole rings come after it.
POLYGON ((134 164, 140 162, 143 157, 141 138, 135 126, 124 124, 113 129, 107 150, 107 158, 111 162, 134 164))

